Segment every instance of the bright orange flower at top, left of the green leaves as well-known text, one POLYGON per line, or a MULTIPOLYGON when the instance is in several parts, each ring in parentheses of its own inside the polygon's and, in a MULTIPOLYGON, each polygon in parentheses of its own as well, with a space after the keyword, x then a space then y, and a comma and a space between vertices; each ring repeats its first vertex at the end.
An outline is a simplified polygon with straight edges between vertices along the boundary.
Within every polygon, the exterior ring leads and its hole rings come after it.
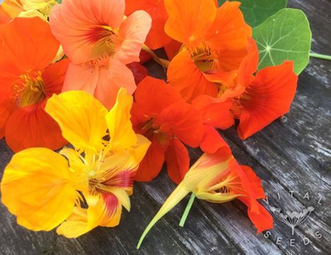
POLYGON ((165 32, 182 43, 168 67, 168 82, 186 101, 201 94, 216 96, 206 75, 236 70, 246 56, 251 27, 239 5, 227 1, 217 8, 213 0, 165 0, 165 32))

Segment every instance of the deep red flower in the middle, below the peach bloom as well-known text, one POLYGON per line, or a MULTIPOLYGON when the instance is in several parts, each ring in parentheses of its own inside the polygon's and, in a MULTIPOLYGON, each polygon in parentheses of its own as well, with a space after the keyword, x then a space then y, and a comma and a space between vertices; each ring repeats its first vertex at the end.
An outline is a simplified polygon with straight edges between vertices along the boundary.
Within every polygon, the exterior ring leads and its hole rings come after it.
POLYGON ((151 141, 135 180, 156 178, 165 161, 171 180, 179 183, 189 169, 184 144, 199 147, 204 133, 199 112, 163 80, 146 77, 135 92, 132 125, 151 141))

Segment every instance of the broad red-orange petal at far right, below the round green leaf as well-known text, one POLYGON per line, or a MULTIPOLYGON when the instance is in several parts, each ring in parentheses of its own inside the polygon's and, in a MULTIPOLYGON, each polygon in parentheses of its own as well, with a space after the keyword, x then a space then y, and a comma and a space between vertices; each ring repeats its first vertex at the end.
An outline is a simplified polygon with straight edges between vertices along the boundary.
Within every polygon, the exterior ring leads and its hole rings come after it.
POLYGON ((247 99, 241 99, 238 135, 246 139, 289 111, 298 77, 293 62, 260 70, 246 89, 247 99))

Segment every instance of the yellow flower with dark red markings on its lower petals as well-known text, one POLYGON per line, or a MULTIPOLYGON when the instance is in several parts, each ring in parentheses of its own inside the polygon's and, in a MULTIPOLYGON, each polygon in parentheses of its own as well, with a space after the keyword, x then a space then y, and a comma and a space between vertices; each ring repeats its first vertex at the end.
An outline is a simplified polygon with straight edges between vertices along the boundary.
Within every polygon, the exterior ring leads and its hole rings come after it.
POLYGON ((85 91, 54 94, 46 111, 74 149, 18 152, 4 170, 2 202, 30 230, 78 237, 118 225, 149 140, 130 122, 132 96, 120 89, 111 111, 85 91), (108 132, 107 132, 108 129, 108 132), (104 137, 110 136, 111 139, 104 137))

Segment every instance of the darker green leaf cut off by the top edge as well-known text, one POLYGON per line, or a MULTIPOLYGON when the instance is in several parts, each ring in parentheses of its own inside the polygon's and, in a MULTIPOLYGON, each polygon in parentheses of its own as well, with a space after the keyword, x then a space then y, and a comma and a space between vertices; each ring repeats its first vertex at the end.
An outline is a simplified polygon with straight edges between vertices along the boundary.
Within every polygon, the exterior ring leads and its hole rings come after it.
MULTIPOLYGON (((242 3, 240 10, 244 13, 246 23, 251 27, 263 23, 271 15, 287 6, 287 0, 230 0, 242 3)), ((225 0, 218 0, 218 6, 224 4, 225 0)))

